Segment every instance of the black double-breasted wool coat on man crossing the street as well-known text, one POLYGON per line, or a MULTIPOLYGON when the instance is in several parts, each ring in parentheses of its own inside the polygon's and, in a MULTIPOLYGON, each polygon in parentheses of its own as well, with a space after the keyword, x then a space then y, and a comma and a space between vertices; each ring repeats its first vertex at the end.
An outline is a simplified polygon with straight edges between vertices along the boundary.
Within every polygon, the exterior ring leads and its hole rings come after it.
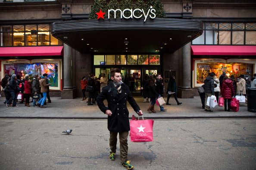
POLYGON ((108 130, 111 132, 130 131, 129 111, 127 109, 127 101, 130 103, 135 112, 140 110, 134 98, 131 96, 129 87, 124 83, 122 92, 118 94, 113 83, 102 88, 102 92, 97 96, 97 104, 100 110, 105 113, 106 110, 111 110, 112 115, 108 116, 108 130), (103 100, 107 100, 106 107, 103 100))

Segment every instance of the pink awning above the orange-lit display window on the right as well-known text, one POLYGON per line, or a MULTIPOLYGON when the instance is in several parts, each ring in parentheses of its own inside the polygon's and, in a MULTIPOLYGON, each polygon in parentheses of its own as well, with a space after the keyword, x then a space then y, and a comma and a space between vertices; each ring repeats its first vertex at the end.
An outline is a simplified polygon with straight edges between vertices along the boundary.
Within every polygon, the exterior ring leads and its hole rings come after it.
POLYGON ((256 55, 256 46, 191 46, 192 55, 256 55))

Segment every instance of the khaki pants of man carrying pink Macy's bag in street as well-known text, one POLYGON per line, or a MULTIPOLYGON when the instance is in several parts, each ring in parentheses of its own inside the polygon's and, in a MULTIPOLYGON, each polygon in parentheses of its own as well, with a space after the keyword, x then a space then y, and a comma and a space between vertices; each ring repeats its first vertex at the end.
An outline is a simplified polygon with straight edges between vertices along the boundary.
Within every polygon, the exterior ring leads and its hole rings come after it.
MULTIPOLYGON (((116 143, 117 143, 117 134, 116 132, 110 132, 110 137, 109 137, 109 146, 111 149, 110 153, 116 153, 116 143)), ((127 154, 128 154, 128 143, 127 143, 127 138, 128 138, 128 131, 124 132, 119 132, 119 142, 120 142, 120 159, 121 159, 121 164, 123 162, 126 162, 127 159, 127 154)))

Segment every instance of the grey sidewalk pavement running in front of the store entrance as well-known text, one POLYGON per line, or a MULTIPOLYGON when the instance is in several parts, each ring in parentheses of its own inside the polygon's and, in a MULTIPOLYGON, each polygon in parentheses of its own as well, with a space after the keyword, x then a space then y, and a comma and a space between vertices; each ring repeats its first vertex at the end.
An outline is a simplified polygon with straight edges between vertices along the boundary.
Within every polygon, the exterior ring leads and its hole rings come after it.
MULTIPOLYGON (((97 104, 87 106, 86 101, 81 98, 76 99, 60 99, 60 97, 51 97, 52 103, 45 105, 47 108, 24 106, 17 102, 19 107, 6 107, 4 97, 0 99, 0 118, 107 118, 103 112, 100 111, 97 104)), ((145 118, 250 118, 256 117, 256 112, 248 112, 247 104, 240 103, 239 111, 225 112, 224 106, 215 106, 212 110, 214 112, 206 112, 202 109, 202 104, 199 96, 193 99, 179 99, 181 105, 177 105, 174 98, 171 97, 169 103, 165 105, 166 112, 160 112, 159 106, 155 105, 156 113, 147 113, 149 103, 143 103, 143 97, 134 97, 140 109, 144 113, 145 118)), ((166 98, 165 98, 166 100, 166 98)), ((106 105, 106 102, 105 102, 106 105)), ((137 113, 131 108, 128 103, 129 117, 137 113)))

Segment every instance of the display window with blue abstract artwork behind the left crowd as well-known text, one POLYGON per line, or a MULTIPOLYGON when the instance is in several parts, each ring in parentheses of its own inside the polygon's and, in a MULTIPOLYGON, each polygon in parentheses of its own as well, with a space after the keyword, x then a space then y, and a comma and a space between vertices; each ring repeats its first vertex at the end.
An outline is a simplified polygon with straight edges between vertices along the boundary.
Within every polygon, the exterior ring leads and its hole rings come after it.
POLYGON ((16 74, 25 77, 28 74, 32 79, 34 75, 47 73, 50 89, 61 90, 61 59, 36 60, 7 60, 1 61, 1 77, 4 74, 16 74))

